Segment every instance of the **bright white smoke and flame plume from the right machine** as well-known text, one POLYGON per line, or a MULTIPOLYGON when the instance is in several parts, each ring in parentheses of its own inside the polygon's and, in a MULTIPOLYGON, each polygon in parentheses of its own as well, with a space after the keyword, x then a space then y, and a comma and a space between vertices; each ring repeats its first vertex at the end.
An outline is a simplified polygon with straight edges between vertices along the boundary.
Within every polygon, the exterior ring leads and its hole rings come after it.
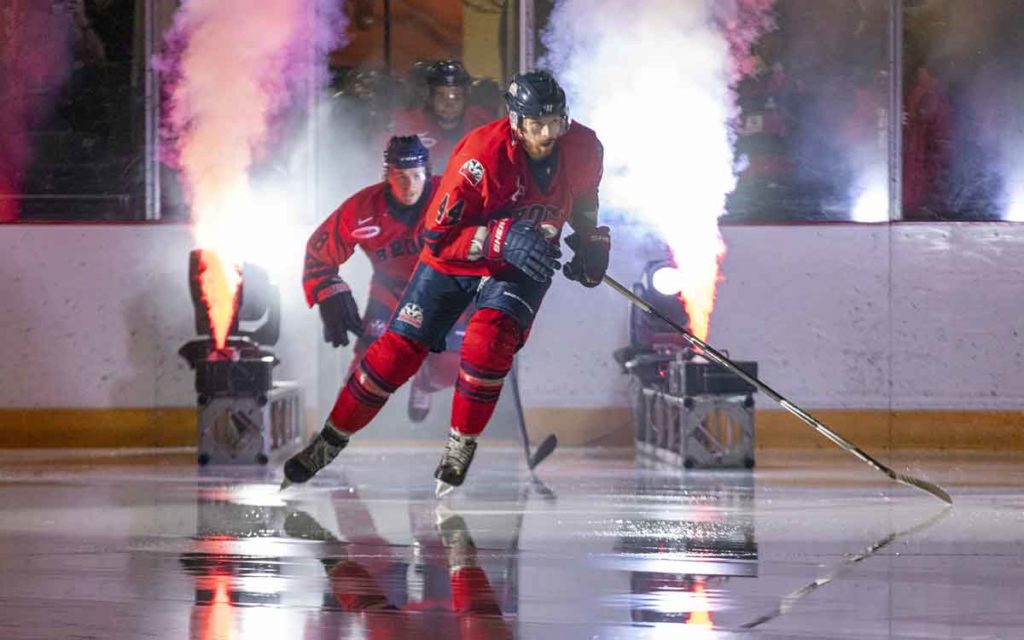
POLYGON ((669 246, 700 339, 725 256, 718 218, 735 186, 732 87, 755 68, 750 45, 771 28, 773 2, 562 0, 545 33, 546 65, 604 143, 602 201, 669 246))

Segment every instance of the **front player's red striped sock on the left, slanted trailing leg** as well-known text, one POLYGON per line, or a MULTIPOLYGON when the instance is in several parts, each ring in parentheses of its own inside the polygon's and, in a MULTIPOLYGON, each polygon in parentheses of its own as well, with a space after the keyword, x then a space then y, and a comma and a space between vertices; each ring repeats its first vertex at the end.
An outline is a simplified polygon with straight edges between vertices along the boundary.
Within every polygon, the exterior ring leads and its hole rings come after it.
POLYGON ((416 373, 426 356, 426 346, 386 332, 370 345, 342 387, 331 410, 331 422, 347 434, 367 426, 387 398, 416 373))

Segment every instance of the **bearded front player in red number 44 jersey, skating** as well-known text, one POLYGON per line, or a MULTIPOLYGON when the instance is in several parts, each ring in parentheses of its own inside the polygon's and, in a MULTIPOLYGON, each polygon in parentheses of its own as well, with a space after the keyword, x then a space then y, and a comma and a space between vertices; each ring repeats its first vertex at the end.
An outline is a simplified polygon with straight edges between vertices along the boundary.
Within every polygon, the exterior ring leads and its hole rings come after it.
POLYGON ((608 228, 597 226, 602 147, 568 118, 547 72, 516 75, 508 118, 467 135, 429 207, 425 247, 388 331, 367 350, 305 450, 285 465, 287 485, 330 463, 388 396, 419 369, 474 300, 461 352, 452 431, 434 472, 438 496, 463 483, 512 358, 559 267, 558 237, 574 255, 570 280, 596 287, 608 265, 608 228))

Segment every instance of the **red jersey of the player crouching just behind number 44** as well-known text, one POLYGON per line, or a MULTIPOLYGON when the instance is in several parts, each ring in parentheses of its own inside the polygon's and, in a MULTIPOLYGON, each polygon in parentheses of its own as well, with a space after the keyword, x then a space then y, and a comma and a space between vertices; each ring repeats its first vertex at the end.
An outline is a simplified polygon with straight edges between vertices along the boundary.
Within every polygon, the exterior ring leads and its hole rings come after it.
MULTIPOLYGON (((423 202, 429 204, 440 178, 427 182, 423 202)), ((306 243, 302 288, 309 306, 346 288, 338 276, 356 247, 362 249, 373 265, 371 298, 395 304, 413 273, 422 247, 424 212, 416 209, 408 218, 396 217, 390 205, 387 182, 368 186, 346 200, 321 223, 306 243)))

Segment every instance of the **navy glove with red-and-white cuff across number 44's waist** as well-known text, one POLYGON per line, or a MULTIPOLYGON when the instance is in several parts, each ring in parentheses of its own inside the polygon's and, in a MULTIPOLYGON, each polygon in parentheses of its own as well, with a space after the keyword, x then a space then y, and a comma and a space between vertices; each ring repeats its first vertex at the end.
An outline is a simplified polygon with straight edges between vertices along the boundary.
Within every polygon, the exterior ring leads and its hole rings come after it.
POLYGON ((562 252, 529 220, 499 218, 487 225, 483 256, 504 261, 539 283, 551 280, 562 252))

